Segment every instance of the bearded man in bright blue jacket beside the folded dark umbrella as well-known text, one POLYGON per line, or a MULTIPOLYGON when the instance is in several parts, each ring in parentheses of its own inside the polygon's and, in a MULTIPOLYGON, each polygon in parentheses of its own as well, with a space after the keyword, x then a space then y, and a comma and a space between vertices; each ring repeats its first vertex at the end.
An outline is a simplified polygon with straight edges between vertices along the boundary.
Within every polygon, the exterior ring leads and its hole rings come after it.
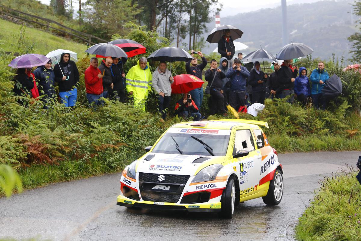
POLYGON ((322 89, 325 87, 325 82, 329 79, 329 73, 325 70, 323 62, 318 63, 318 68, 311 73, 310 80, 312 82, 311 98, 313 106, 316 108, 326 109, 326 101, 322 98, 322 89))

